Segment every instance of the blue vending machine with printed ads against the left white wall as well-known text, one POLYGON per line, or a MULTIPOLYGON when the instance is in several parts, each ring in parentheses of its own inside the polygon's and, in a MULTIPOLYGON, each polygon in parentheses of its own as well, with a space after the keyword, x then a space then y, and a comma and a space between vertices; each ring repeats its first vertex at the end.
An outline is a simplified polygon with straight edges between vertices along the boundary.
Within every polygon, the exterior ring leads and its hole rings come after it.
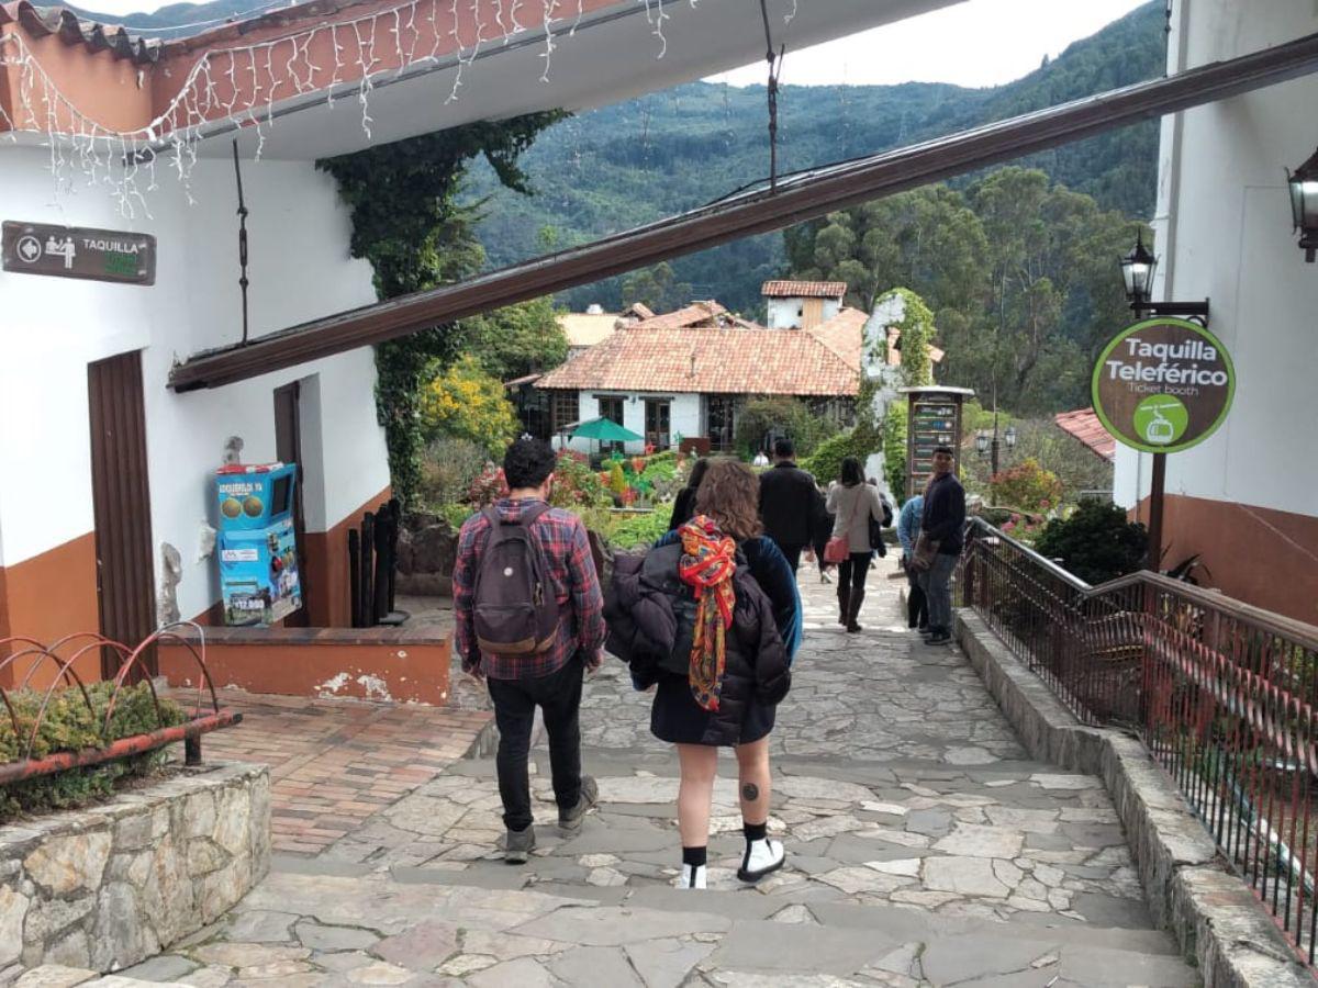
POLYGON ((225 624, 270 624, 302 607, 293 528, 295 464, 215 472, 225 624))

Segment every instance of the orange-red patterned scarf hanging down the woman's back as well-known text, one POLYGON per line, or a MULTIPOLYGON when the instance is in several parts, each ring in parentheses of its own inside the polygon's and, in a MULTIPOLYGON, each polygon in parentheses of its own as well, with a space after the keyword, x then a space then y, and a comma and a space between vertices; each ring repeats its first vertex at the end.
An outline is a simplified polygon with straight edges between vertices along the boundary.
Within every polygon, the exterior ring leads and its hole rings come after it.
POLYGON ((691 643, 687 681, 705 710, 718 710, 728 663, 726 635, 733 623, 733 573, 737 544, 718 531, 712 518, 696 515, 679 530, 681 560, 677 574, 696 597, 696 628, 691 643))

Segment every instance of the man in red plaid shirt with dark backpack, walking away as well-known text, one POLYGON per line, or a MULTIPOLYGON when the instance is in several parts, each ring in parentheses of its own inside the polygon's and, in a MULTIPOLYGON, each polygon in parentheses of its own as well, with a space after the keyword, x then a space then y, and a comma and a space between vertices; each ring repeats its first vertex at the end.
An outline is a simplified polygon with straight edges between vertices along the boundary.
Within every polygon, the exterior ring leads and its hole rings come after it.
POLYGON ((581 775, 581 681, 604 656, 604 598, 581 520, 547 503, 554 452, 519 439, 503 456, 509 494, 472 515, 453 565, 455 642, 463 671, 485 680, 500 742, 496 756, 503 859, 535 847, 527 756, 535 707, 550 736, 559 827, 573 833, 598 798, 581 775))

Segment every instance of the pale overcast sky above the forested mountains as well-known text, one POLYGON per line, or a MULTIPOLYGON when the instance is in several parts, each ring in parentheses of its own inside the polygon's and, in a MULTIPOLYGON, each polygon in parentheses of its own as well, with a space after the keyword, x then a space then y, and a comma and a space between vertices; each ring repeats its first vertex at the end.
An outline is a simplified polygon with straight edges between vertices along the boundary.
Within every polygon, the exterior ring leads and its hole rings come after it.
MULTIPOLYGON (((800 0, 809 3, 809 0, 800 0)), ((784 86, 946 82, 1000 86, 1147 0, 966 0, 887 28, 788 51, 784 86)), ((764 62, 716 76, 763 84, 764 62)))

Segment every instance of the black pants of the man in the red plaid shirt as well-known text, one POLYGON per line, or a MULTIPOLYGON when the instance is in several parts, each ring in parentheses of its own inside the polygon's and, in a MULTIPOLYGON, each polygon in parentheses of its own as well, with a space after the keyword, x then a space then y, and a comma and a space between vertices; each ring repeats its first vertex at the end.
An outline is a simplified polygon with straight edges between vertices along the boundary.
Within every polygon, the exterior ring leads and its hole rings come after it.
POLYGON ((531 826, 531 784, 526 761, 531 751, 535 707, 544 711, 550 735, 550 768, 559 809, 571 809, 581 798, 581 678, 585 664, 573 657, 558 672, 536 680, 488 680, 498 725, 498 794, 503 800, 503 826, 531 826))

